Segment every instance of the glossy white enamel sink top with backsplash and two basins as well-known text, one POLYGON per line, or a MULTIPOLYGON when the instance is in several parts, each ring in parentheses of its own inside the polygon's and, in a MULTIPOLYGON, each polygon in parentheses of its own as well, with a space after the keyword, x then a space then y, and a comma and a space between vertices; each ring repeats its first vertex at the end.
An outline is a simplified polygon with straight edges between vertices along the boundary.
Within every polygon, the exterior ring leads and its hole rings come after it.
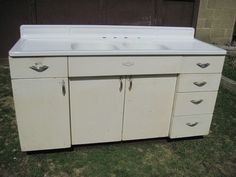
POLYGON ((211 55, 226 51, 194 39, 193 28, 23 25, 9 51, 17 56, 211 55))

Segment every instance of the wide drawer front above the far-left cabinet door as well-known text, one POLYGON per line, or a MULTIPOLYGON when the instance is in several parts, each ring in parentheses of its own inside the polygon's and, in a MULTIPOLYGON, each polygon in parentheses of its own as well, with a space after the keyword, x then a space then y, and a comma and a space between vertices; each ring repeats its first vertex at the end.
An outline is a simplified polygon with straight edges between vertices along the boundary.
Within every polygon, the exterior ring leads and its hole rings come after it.
POLYGON ((11 78, 67 77, 66 57, 10 58, 11 78))

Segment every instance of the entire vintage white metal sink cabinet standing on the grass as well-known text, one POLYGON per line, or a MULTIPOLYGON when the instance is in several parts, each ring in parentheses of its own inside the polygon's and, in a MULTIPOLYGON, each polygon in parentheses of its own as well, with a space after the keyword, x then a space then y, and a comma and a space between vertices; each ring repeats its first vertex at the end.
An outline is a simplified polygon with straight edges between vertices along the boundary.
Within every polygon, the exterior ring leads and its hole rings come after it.
POLYGON ((207 135, 225 54, 193 28, 21 26, 9 64, 22 150, 207 135))

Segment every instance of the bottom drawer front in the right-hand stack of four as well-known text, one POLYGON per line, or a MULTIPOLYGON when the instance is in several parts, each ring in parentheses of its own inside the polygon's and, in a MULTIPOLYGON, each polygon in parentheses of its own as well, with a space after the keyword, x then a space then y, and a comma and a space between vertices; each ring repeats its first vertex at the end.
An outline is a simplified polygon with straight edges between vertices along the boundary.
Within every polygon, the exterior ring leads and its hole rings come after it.
POLYGON ((212 114, 174 117, 170 138, 207 135, 210 130, 212 114))

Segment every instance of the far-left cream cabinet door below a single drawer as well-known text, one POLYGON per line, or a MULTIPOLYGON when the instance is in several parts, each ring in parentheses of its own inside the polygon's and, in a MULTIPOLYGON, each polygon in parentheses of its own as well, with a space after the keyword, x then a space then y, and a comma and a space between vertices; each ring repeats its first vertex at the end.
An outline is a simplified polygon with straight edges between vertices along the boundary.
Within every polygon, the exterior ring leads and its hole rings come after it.
POLYGON ((70 147, 68 79, 12 80, 22 151, 70 147))

